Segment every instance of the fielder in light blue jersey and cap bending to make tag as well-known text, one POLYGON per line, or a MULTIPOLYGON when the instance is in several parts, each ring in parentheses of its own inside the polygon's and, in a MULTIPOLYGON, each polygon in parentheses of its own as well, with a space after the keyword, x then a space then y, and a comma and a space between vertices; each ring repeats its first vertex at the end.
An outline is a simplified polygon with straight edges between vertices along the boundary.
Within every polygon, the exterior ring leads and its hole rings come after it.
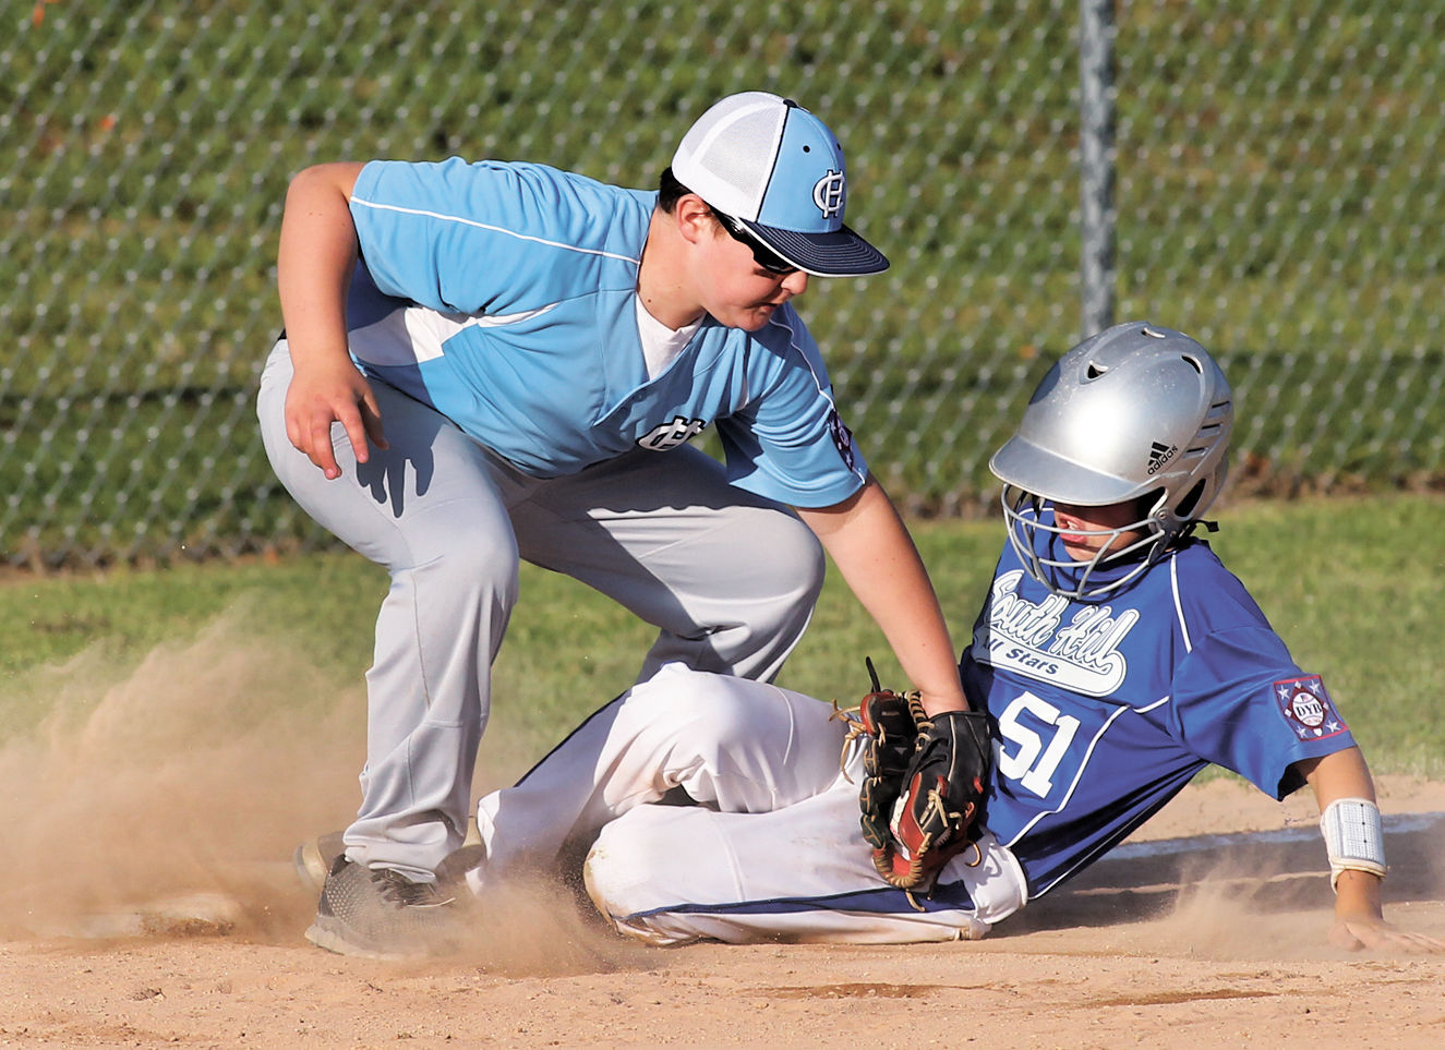
POLYGON ((827 549, 926 705, 965 706, 792 305, 815 276, 887 267, 845 202, 832 131, 766 92, 709 108, 659 192, 458 159, 292 181, 262 433, 296 501, 392 579, 361 807, 315 943, 390 953, 445 913, 519 559, 657 625, 639 680, 666 663, 767 680, 827 549), (708 428, 725 464, 686 445, 708 428))

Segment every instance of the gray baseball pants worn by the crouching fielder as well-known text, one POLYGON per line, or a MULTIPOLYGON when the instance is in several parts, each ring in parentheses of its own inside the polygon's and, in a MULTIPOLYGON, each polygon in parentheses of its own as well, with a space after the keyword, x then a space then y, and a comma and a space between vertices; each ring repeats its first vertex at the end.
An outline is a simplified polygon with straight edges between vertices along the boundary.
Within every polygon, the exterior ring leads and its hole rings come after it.
POLYGON ((286 438, 290 352, 279 342, 257 415, 298 504, 386 568, 367 672, 367 758, 347 856, 429 880, 461 845, 491 661, 519 559, 574 576, 657 627, 665 663, 770 680, 812 617, 822 549, 786 507, 727 484, 698 449, 636 451, 538 480, 431 407, 373 383, 390 449, 357 464, 340 426, 328 481, 286 438))

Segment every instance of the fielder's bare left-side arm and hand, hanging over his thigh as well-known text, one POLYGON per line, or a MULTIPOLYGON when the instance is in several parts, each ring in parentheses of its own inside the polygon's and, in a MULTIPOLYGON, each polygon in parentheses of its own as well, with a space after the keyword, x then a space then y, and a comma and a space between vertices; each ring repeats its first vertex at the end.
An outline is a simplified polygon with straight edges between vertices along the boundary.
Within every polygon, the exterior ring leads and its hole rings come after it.
POLYGON ((292 179, 280 225, 277 287, 296 374, 286 391, 286 436, 328 478, 341 475, 331 425, 341 423, 357 462, 367 441, 386 448, 370 384, 347 354, 347 286, 357 261, 348 207, 360 163, 308 168, 292 179))

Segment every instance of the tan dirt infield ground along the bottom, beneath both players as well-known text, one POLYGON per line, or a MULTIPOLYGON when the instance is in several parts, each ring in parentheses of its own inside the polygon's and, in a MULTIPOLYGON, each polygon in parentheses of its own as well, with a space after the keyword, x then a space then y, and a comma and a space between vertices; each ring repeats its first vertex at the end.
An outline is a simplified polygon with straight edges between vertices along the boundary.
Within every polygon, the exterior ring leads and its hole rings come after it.
MULTIPOLYGON (((1383 786, 1392 815, 1445 810, 1445 784, 1383 786)), ((1325 946, 1318 838, 1263 803, 1225 781, 1189 789, 1150 833, 1208 835, 1241 813, 1283 833, 1126 846, 977 943, 647 949, 519 894, 464 956, 380 963, 302 940, 312 901, 285 864, 171 898, 169 914, 52 914, 17 934, 12 911, 0 1046, 1445 1044, 1445 956, 1325 946)), ((1445 936, 1445 815, 1403 823, 1387 832, 1389 916, 1445 936)))

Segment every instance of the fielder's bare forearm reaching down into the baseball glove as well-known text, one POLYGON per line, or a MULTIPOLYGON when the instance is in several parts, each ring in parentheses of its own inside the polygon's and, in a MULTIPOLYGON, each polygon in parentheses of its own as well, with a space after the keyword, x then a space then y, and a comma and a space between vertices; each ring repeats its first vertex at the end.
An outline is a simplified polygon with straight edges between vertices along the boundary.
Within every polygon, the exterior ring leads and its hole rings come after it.
POLYGON ((938 595, 883 487, 870 477, 851 498, 799 508, 798 516, 883 630, 903 673, 922 693, 923 709, 931 715, 967 709, 938 595))

